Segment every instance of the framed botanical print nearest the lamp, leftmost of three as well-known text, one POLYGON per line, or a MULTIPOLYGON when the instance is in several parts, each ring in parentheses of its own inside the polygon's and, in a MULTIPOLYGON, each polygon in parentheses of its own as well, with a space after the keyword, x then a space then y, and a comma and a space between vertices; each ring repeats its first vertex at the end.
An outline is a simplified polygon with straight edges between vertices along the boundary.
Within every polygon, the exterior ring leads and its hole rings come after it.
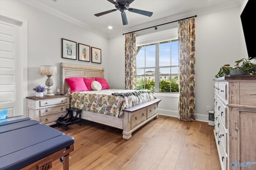
POLYGON ((76 60, 76 42, 68 39, 61 39, 62 58, 76 60))

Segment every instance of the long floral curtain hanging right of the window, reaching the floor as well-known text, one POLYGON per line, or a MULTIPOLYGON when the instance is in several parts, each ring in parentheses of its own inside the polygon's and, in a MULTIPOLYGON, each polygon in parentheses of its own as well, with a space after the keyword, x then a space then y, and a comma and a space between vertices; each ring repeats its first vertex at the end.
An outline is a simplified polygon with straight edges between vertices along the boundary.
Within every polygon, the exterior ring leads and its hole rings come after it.
POLYGON ((196 23, 195 18, 178 22, 180 98, 179 116, 182 121, 195 121, 195 66, 196 23))

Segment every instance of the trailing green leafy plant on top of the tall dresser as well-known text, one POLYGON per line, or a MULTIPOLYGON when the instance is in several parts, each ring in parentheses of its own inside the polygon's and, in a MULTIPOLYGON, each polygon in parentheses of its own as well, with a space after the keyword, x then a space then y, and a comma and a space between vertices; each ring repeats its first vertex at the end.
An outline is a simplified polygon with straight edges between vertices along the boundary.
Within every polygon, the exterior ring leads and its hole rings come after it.
POLYGON ((215 75, 216 78, 228 75, 256 75, 256 64, 251 63, 249 59, 240 59, 235 61, 234 67, 229 64, 222 66, 215 75))

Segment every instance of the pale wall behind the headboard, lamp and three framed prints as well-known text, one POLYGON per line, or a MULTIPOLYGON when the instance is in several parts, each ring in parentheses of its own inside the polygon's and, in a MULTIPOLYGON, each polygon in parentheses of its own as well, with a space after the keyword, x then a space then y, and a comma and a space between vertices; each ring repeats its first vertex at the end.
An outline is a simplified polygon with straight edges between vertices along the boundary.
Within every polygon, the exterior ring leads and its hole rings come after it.
POLYGON ((0 12, 28 20, 28 96, 35 96, 37 84, 45 85, 46 76, 40 75, 40 65, 56 65, 58 74, 52 76, 54 85, 61 87, 60 63, 75 63, 102 66, 108 80, 108 38, 86 31, 82 27, 38 10, 18 0, 1 0, 0 12), (61 58, 61 39, 101 49, 102 64, 61 58))

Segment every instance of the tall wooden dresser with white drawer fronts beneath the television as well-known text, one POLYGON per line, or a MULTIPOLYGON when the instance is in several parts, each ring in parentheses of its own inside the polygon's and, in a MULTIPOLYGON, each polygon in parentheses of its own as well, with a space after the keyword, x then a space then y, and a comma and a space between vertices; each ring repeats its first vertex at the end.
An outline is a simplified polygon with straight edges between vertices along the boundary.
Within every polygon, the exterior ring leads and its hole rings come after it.
POLYGON ((256 76, 214 82, 214 136, 221 168, 256 170, 256 76))

